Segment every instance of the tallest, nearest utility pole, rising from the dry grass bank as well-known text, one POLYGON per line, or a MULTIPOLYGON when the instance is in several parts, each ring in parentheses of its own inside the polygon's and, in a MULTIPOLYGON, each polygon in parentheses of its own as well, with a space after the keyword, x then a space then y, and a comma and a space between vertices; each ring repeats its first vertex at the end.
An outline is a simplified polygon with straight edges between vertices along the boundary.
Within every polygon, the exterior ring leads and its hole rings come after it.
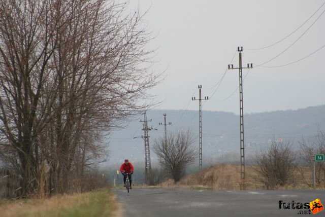
POLYGON ((239 67, 234 68, 233 64, 228 65, 228 69, 239 69, 239 114, 240 114, 240 190, 245 190, 245 143, 244 143, 244 105, 243 105, 243 68, 253 68, 252 63, 247 63, 247 67, 242 67, 243 47, 238 47, 239 67))

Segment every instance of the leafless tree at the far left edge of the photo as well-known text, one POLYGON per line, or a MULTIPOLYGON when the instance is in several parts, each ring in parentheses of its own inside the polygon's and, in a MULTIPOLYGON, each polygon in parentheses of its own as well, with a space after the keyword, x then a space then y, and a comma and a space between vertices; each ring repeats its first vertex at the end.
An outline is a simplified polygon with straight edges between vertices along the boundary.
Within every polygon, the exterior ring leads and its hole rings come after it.
POLYGON ((46 114, 40 108, 54 32, 46 1, 0 2, 0 120, 3 144, 17 151, 24 193, 36 189, 40 166, 36 138, 46 114))

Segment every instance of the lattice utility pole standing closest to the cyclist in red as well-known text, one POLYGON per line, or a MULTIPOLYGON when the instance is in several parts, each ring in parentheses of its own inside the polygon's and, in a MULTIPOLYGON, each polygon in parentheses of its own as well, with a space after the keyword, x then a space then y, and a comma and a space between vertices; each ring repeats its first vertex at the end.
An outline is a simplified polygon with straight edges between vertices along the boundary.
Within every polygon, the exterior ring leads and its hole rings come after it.
MULTIPOLYGON (((145 182, 146 184, 149 184, 150 176, 151 176, 151 159, 150 159, 150 147, 149 147, 149 130, 156 130, 152 127, 148 127, 148 120, 147 120, 147 112, 144 112, 142 115, 144 115, 144 121, 140 119, 140 122, 143 122, 143 128, 144 136, 136 136, 134 138, 143 138, 144 140, 144 155, 145 155, 145 182)), ((151 119, 150 119, 151 121, 151 119)))

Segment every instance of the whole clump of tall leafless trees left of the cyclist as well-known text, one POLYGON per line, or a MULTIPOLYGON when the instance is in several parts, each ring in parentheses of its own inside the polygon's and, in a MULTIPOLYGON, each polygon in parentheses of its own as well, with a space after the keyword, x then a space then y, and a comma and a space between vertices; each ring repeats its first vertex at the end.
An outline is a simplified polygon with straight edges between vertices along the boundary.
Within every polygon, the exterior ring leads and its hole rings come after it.
POLYGON ((0 145, 17 155, 24 195, 66 192, 101 157, 104 131, 150 104, 151 40, 136 12, 105 0, 0 0, 0 145))

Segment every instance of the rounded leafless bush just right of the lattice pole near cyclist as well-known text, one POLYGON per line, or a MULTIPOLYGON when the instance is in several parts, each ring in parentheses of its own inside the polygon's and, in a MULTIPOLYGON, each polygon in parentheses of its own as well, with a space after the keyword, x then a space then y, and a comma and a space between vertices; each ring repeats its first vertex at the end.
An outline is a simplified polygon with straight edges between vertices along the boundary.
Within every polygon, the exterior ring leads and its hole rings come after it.
POLYGON ((170 133, 167 142, 164 137, 154 141, 153 151, 159 158, 159 164, 175 183, 184 176, 186 167, 197 157, 193 142, 190 130, 170 133))

